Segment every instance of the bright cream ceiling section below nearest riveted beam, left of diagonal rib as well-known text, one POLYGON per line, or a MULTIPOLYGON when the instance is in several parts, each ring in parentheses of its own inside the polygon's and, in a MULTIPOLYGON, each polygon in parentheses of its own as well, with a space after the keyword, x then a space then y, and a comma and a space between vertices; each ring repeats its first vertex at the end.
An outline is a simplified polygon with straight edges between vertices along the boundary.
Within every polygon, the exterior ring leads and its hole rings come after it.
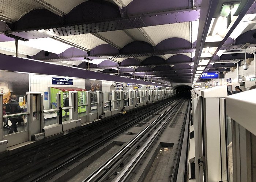
POLYGON ((80 35, 61 36, 61 39, 77 44, 78 46, 87 48, 89 50, 92 50, 94 47, 99 46, 101 44, 107 44, 105 41, 99 39, 98 37, 93 36, 90 33, 80 34, 80 35))

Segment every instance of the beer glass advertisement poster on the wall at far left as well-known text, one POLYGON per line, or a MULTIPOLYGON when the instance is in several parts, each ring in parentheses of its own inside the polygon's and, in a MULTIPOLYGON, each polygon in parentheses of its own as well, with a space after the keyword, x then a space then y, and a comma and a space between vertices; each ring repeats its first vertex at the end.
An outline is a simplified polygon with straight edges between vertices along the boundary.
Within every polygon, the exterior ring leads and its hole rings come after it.
POLYGON ((29 91, 29 74, 0 71, 0 93, 3 103, 10 100, 11 95, 25 95, 29 91))

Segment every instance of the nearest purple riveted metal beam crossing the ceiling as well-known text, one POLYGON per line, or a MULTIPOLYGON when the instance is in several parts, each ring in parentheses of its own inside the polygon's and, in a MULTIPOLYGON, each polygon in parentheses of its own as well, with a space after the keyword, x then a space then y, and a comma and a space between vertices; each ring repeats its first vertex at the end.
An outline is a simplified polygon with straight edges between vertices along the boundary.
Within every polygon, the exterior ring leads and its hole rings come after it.
MULTIPOLYGON (((88 11, 88 13, 90 13, 90 11, 88 11)), ((12 23, 12 31, 8 33, 26 39, 77 35, 79 33, 97 33, 131 28, 142 28, 153 25, 195 21, 199 19, 199 14, 200 7, 187 7, 187 9, 178 9, 170 11, 166 11, 165 7, 163 7, 162 10, 136 15, 129 15, 125 17, 120 17, 120 15, 118 15, 118 17, 116 18, 112 17, 111 19, 108 17, 102 17, 100 21, 98 20, 98 17, 95 17, 94 20, 88 19, 87 15, 85 15, 86 17, 80 18, 79 21, 81 22, 78 22, 78 19, 74 15, 74 13, 72 14, 72 16, 68 13, 65 16, 65 19, 68 19, 69 23, 66 23, 67 21, 65 20, 59 21, 57 19, 51 19, 48 20, 49 22, 44 23, 44 25, 40 25, 38 22, 36 22, 36 20, 33 19, 33 17, 30 17, 28 13, 26 18, 30 19, 30 21, 24 21, 22 23, 19 23, 20 20, 18 20, 15 23, 12 23), (41 31, 42 29, 47 31, 41 31)))

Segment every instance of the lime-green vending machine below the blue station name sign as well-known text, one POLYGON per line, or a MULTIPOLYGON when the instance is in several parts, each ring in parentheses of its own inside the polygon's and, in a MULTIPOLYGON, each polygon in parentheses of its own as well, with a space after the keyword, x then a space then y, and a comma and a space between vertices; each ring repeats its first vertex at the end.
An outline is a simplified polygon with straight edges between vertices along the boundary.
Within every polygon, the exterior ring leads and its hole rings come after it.
MULTIPOLYGON (((50 87, 50 105, 51 108, 56 108, 56 94, 61 94, 61 107, 64 107, 65 99, 68 97, 69 91, 77 91, 78 92, 78 114, 86 112, 86 89, 77 88, 77 87, 50 87)), ((67 106, 66 106, 67 107, 67 106)), ((65 114, 65 111, 62 111, 62 115, 65 114)), ((67 113, 69 114, 69 112, 67 113)))

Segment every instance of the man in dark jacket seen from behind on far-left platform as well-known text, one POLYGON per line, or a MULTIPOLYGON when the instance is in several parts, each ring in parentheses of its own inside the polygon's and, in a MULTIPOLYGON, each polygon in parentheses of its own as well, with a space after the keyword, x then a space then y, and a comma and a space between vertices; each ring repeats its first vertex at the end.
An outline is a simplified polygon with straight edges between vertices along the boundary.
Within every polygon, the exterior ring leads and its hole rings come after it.
MULTIPOLYGON (((11 101, 6 106, 6 112, 9 112, 10 114, 16 114, 23 111, 23 108, 20 108, 19 103, 16 101, 16 99, 16 95, 11 95, 11 101)), ((19 119, 22 119, 21 116, 10 117, 9 119, 12 123, 12 126, 8 134, 11 134, 13 131, 18 132, 17 122, 19 119)))

